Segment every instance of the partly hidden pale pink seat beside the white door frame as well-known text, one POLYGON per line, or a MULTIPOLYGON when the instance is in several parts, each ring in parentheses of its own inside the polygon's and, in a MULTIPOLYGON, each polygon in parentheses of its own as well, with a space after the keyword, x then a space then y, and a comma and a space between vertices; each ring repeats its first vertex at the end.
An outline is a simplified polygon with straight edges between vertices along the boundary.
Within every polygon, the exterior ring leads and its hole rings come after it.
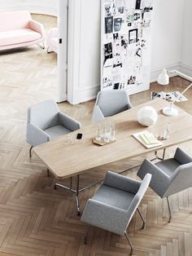
POLYGON ((47 45, 47 53, 50 51, 58 51, 58 28, 50 29, 48 36, 46 38, 46 45, 47 45))

